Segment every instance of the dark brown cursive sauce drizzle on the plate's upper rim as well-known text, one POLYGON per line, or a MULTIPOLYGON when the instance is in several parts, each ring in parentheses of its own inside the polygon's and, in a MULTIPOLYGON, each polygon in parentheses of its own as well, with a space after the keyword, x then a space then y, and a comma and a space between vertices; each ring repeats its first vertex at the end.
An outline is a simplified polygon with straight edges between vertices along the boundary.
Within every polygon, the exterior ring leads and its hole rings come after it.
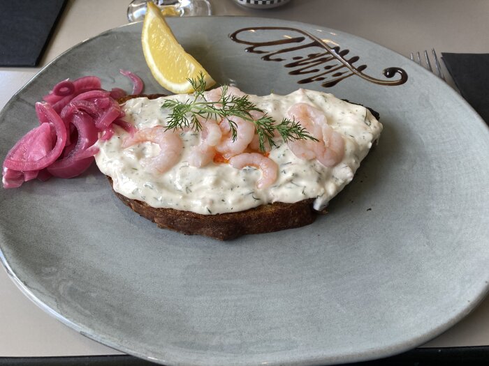
POLYGON ((284 66, 292 69, 289 74, 303 77, 298 81, 299 84, 321 82, 321 86, 328 88, 353 75, 374 84, 385 86, 400 85, 407 82, 407 73, 402 68, 395 67, 386 68, 382 71, 388 79, 371 77, 363 73, 367 65, 353 65, 360 57, 351 56, 349 59, 346 57, 350 52, 349 49, 340 49, 340 46, 330 47, 325 41, 300 29, 284 26, 254 26, 239 29, 229 37, 237 43, 249 45, 245 49, 247 52, 264 54, 261 59, 265 61, 287 61, 288 63, 284 66), (272 34, 271 31, 288 31, 299 34, 296 36, 282 35, 281 38, 272 40, 246 39, 247 36, 253 36, 258 31, 268 31, 270 35, 272 34), (238 36, 243 36, 243 38, 238 36), (315 52, 303 56, 298 54, 298 51, 302 49, 315 49, 315 52), (398 78, 393 79, 396 75, 398 78))

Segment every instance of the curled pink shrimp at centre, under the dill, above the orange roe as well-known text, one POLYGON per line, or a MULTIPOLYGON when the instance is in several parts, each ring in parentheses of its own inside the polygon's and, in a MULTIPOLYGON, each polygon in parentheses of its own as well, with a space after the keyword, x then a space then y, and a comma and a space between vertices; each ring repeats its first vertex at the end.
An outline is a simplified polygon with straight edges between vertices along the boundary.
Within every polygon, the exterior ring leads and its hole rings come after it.
POLYGON ((236 116, 222 119, 221 123, 219 123, 219 127, 224 133, 221 142, 216 145, 216 150, 226 159, 245 151, 255 135, 254 123, 236 116), (237 135, 234 141, 233 135, 231 134, 231 128, 229 127, 229 121, 235 123, 236 126, 237 135))

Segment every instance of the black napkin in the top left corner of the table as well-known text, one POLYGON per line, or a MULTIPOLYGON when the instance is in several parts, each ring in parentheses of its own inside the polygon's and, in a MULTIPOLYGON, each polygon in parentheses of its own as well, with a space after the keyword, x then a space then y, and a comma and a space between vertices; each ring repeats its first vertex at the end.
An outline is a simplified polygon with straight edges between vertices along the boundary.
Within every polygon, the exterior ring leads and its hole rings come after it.
POLYGON ((36 66, 66 0, 0 0, 0 66, 36 66))

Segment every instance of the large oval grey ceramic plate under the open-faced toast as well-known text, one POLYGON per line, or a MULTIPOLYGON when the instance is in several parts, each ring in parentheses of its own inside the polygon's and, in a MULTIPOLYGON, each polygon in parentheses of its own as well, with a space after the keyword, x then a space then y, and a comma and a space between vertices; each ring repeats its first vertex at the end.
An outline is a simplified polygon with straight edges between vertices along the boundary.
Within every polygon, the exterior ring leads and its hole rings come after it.
MULTIPOLYGON (((95 167, 80 178, 0 190, 3 264, 44 310, 158 363, 314 365, 410 349, 481 301, 489 280, 487 126, 446 84, 367 40, 279 20, 170 19, 218 82, 289 93, 300 75, 289 75, 286 61, 263 61, 228 37, 262 25, 293 26, 350 49, 365 75, 385 80, 386 67, 409 75, 399 86, 358 76, 332 88, 304 85, 374 107, 384 123, 330 213, 308 227, 221 243, 157 229, 115 198, 95 167)), ((106 89, 130 89, 119 75, 126 68, 147 92, 161 91, 143 59, 140 27, 87 40, 24 86, 0 114, 0 155, 36 125, 34 102, 61 79, 93 74, 106 89)), ((272 33, 242 36, 295 37, 272 33)))

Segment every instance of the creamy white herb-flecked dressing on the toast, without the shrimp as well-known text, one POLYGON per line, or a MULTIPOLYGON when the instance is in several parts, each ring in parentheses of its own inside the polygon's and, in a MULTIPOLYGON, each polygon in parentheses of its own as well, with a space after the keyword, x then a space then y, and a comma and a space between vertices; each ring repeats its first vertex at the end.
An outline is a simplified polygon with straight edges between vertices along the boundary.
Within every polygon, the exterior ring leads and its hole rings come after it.
MULTIPOLYGON (((131 99, 123 106, 124 119, 136 128, 166 125, 168 110, 161 105, 166 98, 186 101, 189 96, 178 95, 155 100, 131 99)), ((322 210, 353 178, 353 174, 379 138, 382 125, 359 105, 335 98, 332 94, 300 89, 288 96, 249 96, 258 108, 265 110, 277 123, 287 117, 291 105, 304 102, 326 115, 328 124, 340 132, 345 142, 343 160, 333 168, 324 167, 316 159, 297 158, 281 139, 268 156, 279 166, 277 181, 268 188, 256 188, 261 171, 254 167, 235 169, 227 163, 210 162, 205 167, 191 167, 188 163, 192 146, 200 142, 200 133, 182 132, 184 149, 177 163, 164 174, 154 175, 140 165, 141 158, 159 153, 159 146, 143 142, 121 148, 128 134, 115 128, 108 141, 99 141, 96 155, 99 169, 114 182, 114 189, 130 199, 145 201, 155 208, 175 208, 204 215, 244 211, 272 202, 293 203, 313 198, 314 208, 322 210)))

